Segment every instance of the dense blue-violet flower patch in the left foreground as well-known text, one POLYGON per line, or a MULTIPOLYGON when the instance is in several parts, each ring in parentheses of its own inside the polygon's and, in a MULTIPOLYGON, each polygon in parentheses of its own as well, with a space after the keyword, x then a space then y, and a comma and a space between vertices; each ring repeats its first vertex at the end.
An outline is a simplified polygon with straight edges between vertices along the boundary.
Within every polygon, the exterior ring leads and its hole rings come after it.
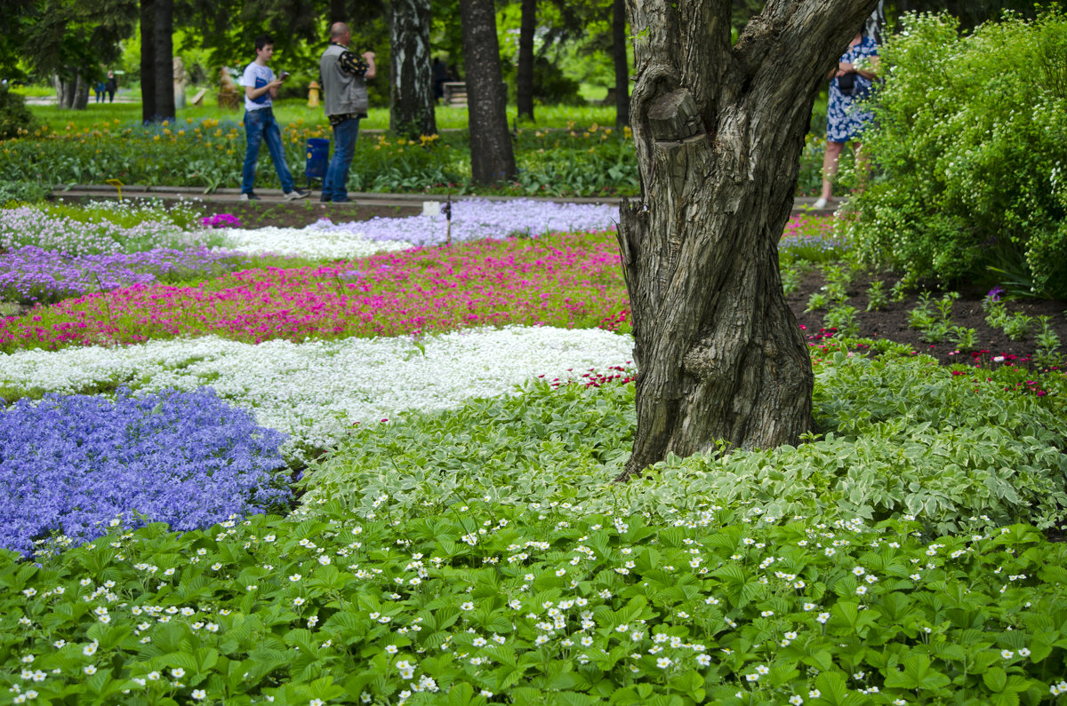
POLYGON ((0 410, 0 547, 30 555, 59 533, 89 542, 122 518, 175 530, 281 510, 285 434, 210 388, 133 399, 49 395, 0 410))

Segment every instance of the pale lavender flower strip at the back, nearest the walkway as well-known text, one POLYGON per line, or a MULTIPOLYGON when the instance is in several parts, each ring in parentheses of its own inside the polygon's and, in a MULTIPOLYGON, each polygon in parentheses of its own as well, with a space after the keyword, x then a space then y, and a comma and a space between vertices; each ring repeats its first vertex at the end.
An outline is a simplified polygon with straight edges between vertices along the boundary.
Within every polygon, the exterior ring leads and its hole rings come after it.
MULTIPOLYGON (((472 198, 452 202, 453 241, 537 237, 550 230, 602 230, 619 222, 618 206, 555 204, 528 198, 491 202, 472 198)), ((376 218, 356 223, 320 221, 317 227, 359 234, 373 241, 407 241, 414 245, 440 245, 446 239, 444 214, 403 219, 376 218)))

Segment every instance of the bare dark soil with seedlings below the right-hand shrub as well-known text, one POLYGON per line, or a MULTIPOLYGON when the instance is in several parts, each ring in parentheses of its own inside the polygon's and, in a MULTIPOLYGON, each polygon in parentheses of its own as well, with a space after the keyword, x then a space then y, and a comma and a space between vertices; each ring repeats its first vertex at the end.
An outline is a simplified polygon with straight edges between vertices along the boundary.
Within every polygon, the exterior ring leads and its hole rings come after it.
MULTIPOLYGON (((929 343, 922 338, 921 332, 908 326, 908 312, 914 309, 920 298, 917 292, 909 292, 903 302, 890 302, 885 308, 867 311, 867 288, 872 282, 881 280, 882 289, 889 292, 899 279, 898 275, 883 273, 860 276, 848 289, 845 305, 857 309, 856 320, 859 323, 860 336, 864 338, 889 339, 896 343, 906 343, 917 352, 934 356, 942 364, 988 364, 996 356, 1004 356, 1005 362, 1014 365, 1033 367, 1031 359, 1037 350, 1035 334, 1023 340, 1012 340, 1000 328, 992 328, 986 323, 986 312, 982 302, 988 293, 987 287, 962 285, 953 291, 959 294, 952 307, 952 325, 974 328, 977 332, 978 347, 974 351, 960 351, 951 340, 941 343, 929 343)), ((819 270, 809 272, 800 282, 797 292, 786 295, 786 301, 797 321, 805 328, 809 340, 819 340, 833 336, 835 330, 827 330, 823 323, 826 310, 805 312, 809 298, 821 290, 826 284, 819 270)), ((940 300, 945 292, 930 290, 930 301, 940 300)), ((1019 299, 1006 302, 1008 314, 1021 311, 1034 317, 1035 327, 1038 316, 1052 317, 1052 328, 1058 335, 1063 349, 1067 354, 1067 302, 1055 300, 1019 299)))

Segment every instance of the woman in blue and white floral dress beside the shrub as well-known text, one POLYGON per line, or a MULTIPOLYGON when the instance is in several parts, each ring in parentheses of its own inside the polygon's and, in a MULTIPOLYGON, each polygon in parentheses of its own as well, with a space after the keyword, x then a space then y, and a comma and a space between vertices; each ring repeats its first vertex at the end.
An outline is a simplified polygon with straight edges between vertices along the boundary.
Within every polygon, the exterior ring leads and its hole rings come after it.
POLYGON ((815 208, 825 208, 833 202, 833 177, 838 173, 838 158, 841 157, 845 144, 856 143, 857 160, 859 159, 859 137, 867 122, 871 111, 865 110, 862 100, 866 96, 874 80, 878 66, 878 45, 864 34, 857 33, 848 44, 848 49, 838 61, 838 68, 830 77, 830 100, 826 111, 826 153, 823 156, 823 194, 815 202, 815 208), (862 66, 860 68, 859 66, 862 66), (843 92, 841 79, 851 80, 850 91, 843 92))

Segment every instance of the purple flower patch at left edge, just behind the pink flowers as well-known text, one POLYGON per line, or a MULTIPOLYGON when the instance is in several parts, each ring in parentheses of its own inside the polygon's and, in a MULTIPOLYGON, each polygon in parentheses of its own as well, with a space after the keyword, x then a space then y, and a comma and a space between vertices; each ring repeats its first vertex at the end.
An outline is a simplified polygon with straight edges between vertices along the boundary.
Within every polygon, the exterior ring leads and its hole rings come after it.
POLYGON ((47 304, 86 292, 220 274, 244 264, 240 253, 206 247, 76 257, 27 245, 0 253, 0 300, 47 304))

